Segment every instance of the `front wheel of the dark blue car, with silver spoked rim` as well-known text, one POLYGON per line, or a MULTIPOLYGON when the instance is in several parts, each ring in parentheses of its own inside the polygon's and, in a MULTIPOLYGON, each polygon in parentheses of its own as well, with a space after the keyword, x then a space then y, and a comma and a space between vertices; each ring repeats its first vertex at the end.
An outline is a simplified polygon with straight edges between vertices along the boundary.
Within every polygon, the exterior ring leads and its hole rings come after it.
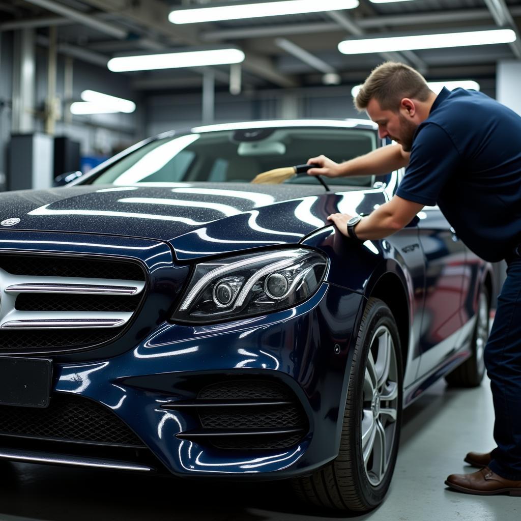
POLYGON ((400 337, 391 310, 379 299, 366 305, 349 371, 339 454, 292 485, 300 499, 314 505, 366 512, 383 501, 389 488, 402 418, 400 337))

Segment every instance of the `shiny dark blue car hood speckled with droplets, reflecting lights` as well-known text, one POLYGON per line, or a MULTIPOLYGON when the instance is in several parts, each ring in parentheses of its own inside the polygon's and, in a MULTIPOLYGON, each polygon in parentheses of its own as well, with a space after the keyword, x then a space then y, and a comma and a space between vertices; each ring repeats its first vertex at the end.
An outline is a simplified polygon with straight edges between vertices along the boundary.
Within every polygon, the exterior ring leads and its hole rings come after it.
POLYGON ((314 185, 179 183, 77 185, 0 194, 2 230, 127 235, 170 242, 178 258, 296 243, 334 212, 369 213, 381 191, 325 192, 314 185))

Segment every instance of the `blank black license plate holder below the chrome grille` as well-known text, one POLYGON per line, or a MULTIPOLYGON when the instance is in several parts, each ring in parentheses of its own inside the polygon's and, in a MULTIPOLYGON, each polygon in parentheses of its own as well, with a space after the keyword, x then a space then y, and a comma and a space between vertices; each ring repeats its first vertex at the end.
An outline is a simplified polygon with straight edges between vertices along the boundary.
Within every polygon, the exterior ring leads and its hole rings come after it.
POLYGON ((52 373, 47 358, 0 356, 0 405, 47 407, 52 373))

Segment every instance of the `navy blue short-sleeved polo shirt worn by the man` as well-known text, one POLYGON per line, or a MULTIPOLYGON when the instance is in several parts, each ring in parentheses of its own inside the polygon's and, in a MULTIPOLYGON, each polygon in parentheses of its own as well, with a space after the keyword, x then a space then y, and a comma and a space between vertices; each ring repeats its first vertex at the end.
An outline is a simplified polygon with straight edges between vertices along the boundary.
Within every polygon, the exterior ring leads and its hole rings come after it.
POLYGON ((438 204, 470 250, 505 258, 521 243, 521 117, 481 92, 443 89, 396 194, 438 204))

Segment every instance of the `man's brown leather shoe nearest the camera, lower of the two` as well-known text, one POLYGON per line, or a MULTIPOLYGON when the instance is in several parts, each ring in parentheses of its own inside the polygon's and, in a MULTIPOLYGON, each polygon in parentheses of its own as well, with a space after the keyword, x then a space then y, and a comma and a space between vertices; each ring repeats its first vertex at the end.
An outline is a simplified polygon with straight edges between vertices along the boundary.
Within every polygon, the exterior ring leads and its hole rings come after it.
POLYGON ((451 474, 445 485, 460 492, 478 495, 504 494, 521 496, 521 480, 505 479, 485 467, 472 474, 451 474))

